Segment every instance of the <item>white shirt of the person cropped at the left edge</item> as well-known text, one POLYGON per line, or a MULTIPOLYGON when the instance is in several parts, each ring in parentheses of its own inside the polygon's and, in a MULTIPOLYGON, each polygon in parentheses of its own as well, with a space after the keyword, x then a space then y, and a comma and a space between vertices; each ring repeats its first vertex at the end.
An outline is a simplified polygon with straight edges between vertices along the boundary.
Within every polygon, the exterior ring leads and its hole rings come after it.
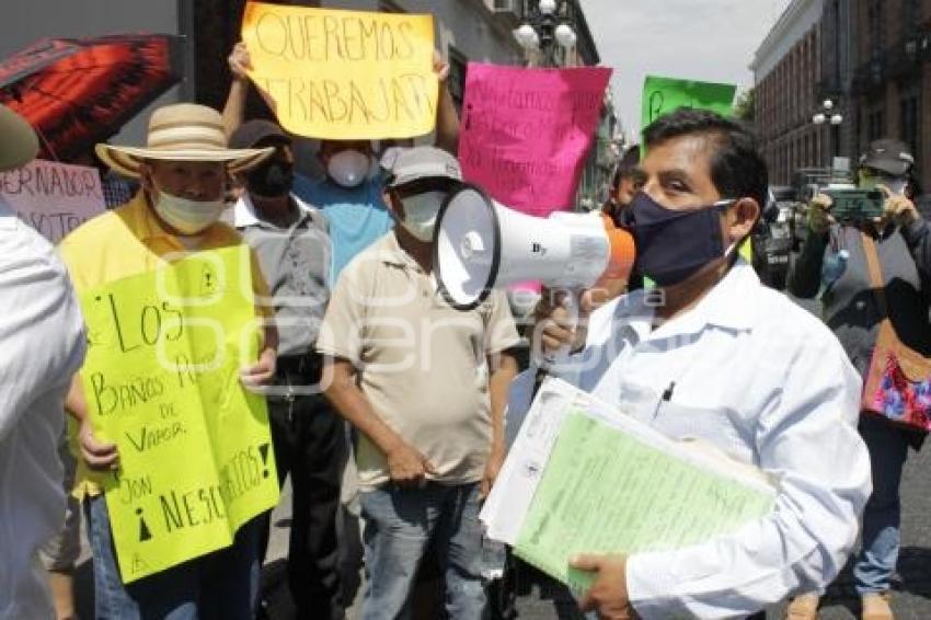
POLYGON ((51 245, 0 204, 0 619, 54 618, 36 551, 62 526, 58 441, 83 319, 51 245))

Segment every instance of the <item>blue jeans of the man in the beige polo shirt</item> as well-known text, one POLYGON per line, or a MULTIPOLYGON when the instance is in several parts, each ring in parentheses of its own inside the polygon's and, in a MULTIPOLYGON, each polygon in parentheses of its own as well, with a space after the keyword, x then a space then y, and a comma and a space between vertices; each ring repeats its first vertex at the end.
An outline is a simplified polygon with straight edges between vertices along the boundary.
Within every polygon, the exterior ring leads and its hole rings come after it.
POLYGON ((391 484, 360 495, 365 523, 366 589, 363 620, 411 616, 410 595, 433 540, 446 577, 446 610, 451 620, 482 618, 482 528, 479 485, 423 489, 391 484))

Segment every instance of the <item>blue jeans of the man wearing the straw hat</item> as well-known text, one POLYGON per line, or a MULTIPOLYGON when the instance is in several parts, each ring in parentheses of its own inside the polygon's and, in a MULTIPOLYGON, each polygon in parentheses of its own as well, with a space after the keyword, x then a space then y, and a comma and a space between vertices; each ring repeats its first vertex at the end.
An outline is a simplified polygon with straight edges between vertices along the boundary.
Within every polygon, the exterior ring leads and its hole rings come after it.
POLYGON ((231 547, 125 585, 103 495, 87 503, 94 566, 94 616, 118 620, 252 620, 258 597, 258 523, 244 524, 231 547))

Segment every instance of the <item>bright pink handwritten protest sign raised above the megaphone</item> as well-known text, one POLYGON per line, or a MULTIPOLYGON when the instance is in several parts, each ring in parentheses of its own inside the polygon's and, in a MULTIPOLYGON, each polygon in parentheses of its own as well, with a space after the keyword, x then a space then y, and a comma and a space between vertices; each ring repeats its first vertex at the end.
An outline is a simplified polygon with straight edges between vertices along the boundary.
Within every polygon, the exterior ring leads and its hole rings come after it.
POLYGON ((467 181, 522 213, 568 208, 611 70, 469 64, 459 159, 467 181))

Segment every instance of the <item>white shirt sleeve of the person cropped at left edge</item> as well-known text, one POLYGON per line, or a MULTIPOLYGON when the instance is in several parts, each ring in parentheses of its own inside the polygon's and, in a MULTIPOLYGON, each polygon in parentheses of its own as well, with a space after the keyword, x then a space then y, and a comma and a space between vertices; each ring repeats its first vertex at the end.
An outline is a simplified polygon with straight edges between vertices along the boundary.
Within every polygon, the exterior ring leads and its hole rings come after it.
POLYGON ((48 242, 11 219, 0 218, 0 441, 38 394, 70 382, 87 347, 68 273, 48 242))

